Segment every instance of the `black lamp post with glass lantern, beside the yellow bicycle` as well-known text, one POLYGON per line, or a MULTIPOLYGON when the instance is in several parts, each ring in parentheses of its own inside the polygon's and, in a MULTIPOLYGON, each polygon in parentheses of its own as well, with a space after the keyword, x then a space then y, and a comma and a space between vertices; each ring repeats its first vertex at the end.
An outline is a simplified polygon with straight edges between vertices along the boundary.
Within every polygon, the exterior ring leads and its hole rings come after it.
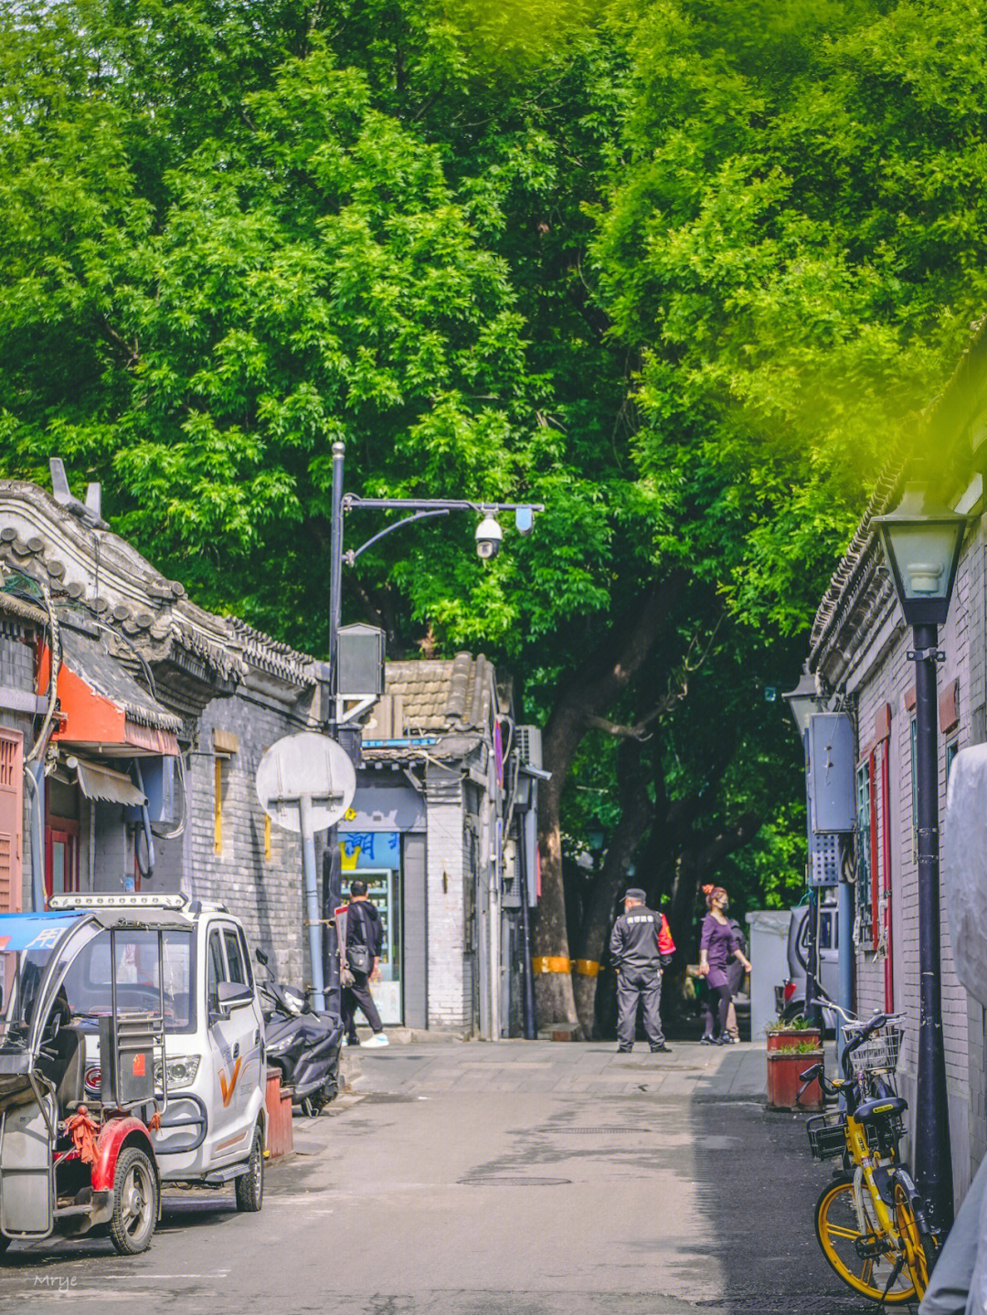
POLYGON ((873 522, 881 535, 915 663, 915 828, 919 855, 919 1081, 915 1178, 937 1228, 953 1220, 946 1060, 942 1043, 940 952, 938 746, 936 663, 938 627, 949 613, 966 517, 937 505, 921 484, 906 485, 899 506, 873 522))

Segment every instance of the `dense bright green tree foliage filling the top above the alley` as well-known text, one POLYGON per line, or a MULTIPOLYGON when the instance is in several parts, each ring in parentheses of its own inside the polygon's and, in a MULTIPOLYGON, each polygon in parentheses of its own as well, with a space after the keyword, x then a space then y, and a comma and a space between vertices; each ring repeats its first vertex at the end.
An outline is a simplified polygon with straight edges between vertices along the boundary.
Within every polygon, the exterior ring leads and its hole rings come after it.
MULTIPOLYGON (((786 903, 764 686, 980 312, 986 42, 979 0, 13 0, 0 469, 62 455, 204 604, 314 652, 334 439, 352 490, 544 501, 489 567, 428 523, 346 597, 394 654, 482 647, 530 717, 683 572, 611 714, 704 655, 647 742, 656 818, 757 815, 720 874, 786 903)), ((591 731, 577 842, 614 773, 591 731)))

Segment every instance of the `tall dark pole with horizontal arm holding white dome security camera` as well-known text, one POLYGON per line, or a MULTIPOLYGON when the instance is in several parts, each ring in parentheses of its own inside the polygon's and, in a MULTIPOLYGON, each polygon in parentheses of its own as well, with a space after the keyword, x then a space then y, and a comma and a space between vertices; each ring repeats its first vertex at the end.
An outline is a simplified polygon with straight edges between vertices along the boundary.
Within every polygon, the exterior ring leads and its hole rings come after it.
MULTIPOLYGON (((414 521, 448 515, 449 512, 474 512, 481 519, 476 529, 476 552, 482 562, 495 558, 501 551, 503 531, 497 517, 505 512, 514 513, 514 523, 519 534, 531 534, 535 514, 544 512, 541 502, 474 502, 467 498, 365 498, 355 493, 344 493, 346 443, 340 439, 333 443, 333 510, 330 526, 330 568, 329 568, 329 717, 326 732, 335 736, 343 722, 339 696, 339 626, 343 613, 343 563, 354 565, 356 559, 385 538, 414 521), (343 517, 355 510, 405 512, 400 521, 393 521, 377 534, 367 539, 356 550, 344 551, 343 517)), ((331 827, 327 838, 329 873, 325 890, 325 947, 326 947, 326 999, 327 1007, 339 1013, 339 953, 333 910, 342 899, 342 864, 339 861, 339 831, 331 827)))

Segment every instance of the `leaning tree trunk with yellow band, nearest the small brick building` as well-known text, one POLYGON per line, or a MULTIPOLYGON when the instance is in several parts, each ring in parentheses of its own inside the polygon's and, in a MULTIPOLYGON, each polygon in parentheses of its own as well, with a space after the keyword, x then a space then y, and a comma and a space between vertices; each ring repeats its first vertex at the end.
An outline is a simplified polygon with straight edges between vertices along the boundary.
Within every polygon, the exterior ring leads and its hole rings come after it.
POLYGON ((635 601, 627 615, 611 627, 595 652, 572 677, 564 680, 544 736, 544 765, 552 780, 539 788, 539 847, 541 853, 541 899, 535 922, 535 1002, 540 1026, 578 1024, 565 926, 562 886, 562 840, 560 810, 562 790, 576 751, 590 717, 606 711, 644 664, 658 627, 681 594, 686 576, 674 573, 635 601))

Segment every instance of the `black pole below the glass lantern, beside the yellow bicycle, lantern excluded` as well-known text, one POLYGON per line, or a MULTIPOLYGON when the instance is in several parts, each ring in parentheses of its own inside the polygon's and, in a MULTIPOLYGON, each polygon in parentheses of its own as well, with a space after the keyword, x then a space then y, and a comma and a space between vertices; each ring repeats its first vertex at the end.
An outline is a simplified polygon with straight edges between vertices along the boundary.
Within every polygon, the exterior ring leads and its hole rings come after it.
POLYGON ((919 851, 919 1080, 915 1110, 915 1180, 937 1228, 953 1222, 946 1056, 942 1041, 940 955, 938 744, 936 735, 936 626, 915 626, 915 769, 919 851))

